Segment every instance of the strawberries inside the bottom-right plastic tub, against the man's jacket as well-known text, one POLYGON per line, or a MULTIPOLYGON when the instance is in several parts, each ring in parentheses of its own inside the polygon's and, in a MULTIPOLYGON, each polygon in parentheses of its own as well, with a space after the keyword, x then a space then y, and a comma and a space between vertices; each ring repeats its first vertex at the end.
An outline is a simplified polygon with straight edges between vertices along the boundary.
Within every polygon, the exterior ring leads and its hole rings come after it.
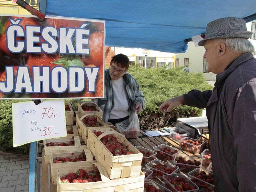
POLYGON ((191 181, 193 181, 198 187, 199 189, 201 189, 204 192, 212 192, 214 191, 214 187, 209 185, 212 184, 214 185, 214 179, 213 179, 213 174, 206 174, 204 171, 200 171, 200 172, 194 172, 193 176, 196 177, 192 178, 191 181), (207 183, 205 183, 205 182, 207 183))

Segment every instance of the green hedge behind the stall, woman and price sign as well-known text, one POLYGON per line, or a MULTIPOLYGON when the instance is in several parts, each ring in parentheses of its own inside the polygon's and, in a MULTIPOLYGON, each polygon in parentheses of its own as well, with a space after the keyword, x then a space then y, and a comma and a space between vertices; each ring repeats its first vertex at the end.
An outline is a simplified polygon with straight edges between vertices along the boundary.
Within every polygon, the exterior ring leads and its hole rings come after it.
MULTIPOLYGON (((201 109, 188 106, 179 106, 171 113, 164 114, 158 113, 157 110, 165 100, 187 93, 191 89, 201 91, 212 89, 201 73, 187 73, 182 67, 167 70, 165 68, 130 67, 128 72, 138 81, 146 100, 144 111, 139 113, 141 129, 173 125, 178 117, 200 115, 201 109)), ((68 101, 73 110, 77 111, 78 100, 68 99, 68 101)), ((20 102, 20 100, 0 100, 0 150, 28 154, 28 144, 12 147, 13 102, 20 102)))

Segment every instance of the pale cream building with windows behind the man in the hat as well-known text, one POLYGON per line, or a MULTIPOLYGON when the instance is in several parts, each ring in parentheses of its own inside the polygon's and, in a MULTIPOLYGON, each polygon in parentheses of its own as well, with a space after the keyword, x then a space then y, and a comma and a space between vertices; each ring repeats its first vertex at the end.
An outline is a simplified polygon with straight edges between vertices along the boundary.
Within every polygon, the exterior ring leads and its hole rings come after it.
MULTIPOLYGON (((253 53, 256 58, 256 20, 246 23, 247 31, 252 31, 252 36, 249 39, 254 46, 255 52, 253 53)), ((186 53, 179 53, 176 55, 176 66, 187 66, 189 72, 203 73, 207 81, 215 81, 215 74, 208 71, 208 62, 203 57, 204 47, 195 46, 194 42, 188 43, 188 51, 186 53), (178 65, 179 63, 179 65, 178 65)))

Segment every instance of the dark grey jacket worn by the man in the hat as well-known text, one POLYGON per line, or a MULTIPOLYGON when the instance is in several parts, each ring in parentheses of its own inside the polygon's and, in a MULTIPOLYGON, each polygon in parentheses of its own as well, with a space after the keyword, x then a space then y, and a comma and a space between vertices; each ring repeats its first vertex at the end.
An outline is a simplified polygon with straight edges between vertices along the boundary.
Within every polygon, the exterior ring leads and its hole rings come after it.
POLYGON ((238 57, 216 75, 213 90, 192 90, 184 104, 206 108, 218 192, 256 191, 256 59, 238 57))

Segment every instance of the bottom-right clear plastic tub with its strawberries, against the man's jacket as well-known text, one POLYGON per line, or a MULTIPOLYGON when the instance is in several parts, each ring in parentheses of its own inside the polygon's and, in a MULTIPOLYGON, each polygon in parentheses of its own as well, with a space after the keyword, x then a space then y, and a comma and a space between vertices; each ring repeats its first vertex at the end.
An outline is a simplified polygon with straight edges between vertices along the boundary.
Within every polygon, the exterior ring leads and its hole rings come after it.
POLYGON ((200 191, 215 192, 214 179, 211 172, 197 168, 188 173, 188 178, 199 187, 200 191))

